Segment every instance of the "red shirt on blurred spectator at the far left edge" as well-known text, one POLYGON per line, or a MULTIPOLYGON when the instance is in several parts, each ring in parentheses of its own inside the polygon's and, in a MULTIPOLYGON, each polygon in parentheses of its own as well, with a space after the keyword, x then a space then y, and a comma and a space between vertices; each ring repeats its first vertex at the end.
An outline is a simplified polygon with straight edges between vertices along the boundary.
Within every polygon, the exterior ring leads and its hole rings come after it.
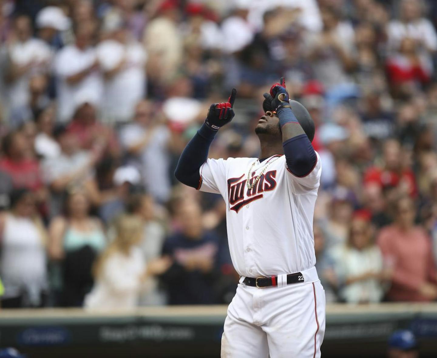
POLYGON ((37 190, 43 185, 37 160, 22 159, 13 161, 4 157, 0 160, 0 169, 10 175, 14 188, 37 190))

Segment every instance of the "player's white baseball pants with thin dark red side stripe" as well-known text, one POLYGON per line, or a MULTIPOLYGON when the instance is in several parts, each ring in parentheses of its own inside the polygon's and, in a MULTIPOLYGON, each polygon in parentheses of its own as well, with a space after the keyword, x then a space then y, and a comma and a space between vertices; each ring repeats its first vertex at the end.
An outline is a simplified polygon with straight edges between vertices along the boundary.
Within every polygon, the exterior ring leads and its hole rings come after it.
MULTIPOLYGON (((238 284, 228 307, 222 358, 316 358, 325 334, 325 291, 316 268, 304 283, 257 288, 238 284)), ((285 278, 286 280, 286 278, 285 278)), ((285 281, 286 282, 286 281, 285 281)))

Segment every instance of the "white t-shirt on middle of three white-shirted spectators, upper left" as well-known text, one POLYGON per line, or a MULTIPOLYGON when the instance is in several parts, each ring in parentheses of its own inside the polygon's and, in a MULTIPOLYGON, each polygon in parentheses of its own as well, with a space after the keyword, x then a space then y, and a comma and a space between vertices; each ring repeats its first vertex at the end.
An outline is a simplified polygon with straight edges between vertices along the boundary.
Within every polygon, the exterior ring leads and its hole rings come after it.
POLYGON ((61 122, 67 122, 75 110, 76 99, 83 93, 93 96, 92 103, 99 105, 103 94, 103 79, 101 72, 96 70, 90 72, 76 84, 67 83, 69 76, 89 68, 96 60, 96 50, 88 47, 80 50, 75 45, 69 45, 55 57, 54 72, 56 76, 56 88, 58 91, 58 117, 61 122))

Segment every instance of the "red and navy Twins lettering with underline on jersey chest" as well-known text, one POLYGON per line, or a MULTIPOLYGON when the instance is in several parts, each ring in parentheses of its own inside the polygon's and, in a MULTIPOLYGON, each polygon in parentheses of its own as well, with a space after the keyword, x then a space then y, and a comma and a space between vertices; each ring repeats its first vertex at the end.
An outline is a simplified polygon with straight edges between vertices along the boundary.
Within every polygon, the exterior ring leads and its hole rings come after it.
MULTIPOLYGON (((246 186, 247 179, 243 179, 245 174, 239 178, 228 179, 228 193, 229 193, 229 207, 230 210, 234 210, 236 213, 246 204, 261 199, 263 192, 270 191, 276 188, 276 170, 266 172, 257 184, 252 189, 248 189, 246 186), (244 199, 244 192, 246 191, 246 198, 244 199)), ((255 180, 255 172, 252 172, 249 183, 252 184, 255 180)))

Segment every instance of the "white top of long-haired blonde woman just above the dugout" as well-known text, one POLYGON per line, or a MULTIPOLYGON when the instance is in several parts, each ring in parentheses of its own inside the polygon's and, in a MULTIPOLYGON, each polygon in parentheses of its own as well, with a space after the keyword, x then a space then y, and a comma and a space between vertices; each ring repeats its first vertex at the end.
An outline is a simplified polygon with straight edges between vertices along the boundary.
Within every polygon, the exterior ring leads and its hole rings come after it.
POLYGON ((114 252, 104 262, 101 276, 85 297, 84 306, 90 309, 135 308, 145 270, 146 261, 139 247, 132 247, 128 255, 114 252))

